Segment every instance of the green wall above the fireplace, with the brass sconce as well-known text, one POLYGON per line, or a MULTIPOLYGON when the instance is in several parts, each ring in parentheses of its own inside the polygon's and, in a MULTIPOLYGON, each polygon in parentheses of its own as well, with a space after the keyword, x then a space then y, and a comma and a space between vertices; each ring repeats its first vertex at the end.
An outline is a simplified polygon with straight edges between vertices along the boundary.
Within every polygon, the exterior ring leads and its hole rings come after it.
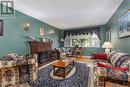
POLYGON ((32 35, 39 37, 40 27, 44 28, 44 38, 53 40, 53 48, 59 47, 59 39, 61 30, 43 23, 35 18, 27 16, 19 11, 15 11, 15 18, 0 18, 4 20, 4 34, 0 36, 0 57, 8 53, 28 54, 28 36, 32 35), (29 22, 30 28, 28 31, 23 29, 24 23, 29 22), (49 29, 54 29, 55 33, 49 35, 49 29))

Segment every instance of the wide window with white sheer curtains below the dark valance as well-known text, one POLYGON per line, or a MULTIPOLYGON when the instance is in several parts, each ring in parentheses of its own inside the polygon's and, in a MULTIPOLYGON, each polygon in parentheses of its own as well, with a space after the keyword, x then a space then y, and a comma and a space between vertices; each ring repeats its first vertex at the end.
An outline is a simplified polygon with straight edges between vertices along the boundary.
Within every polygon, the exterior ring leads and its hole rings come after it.
POLYGON ((81 35, 67 35, 65 37, 65 47, 100 47, 100 39, 97 34, 81 34, 81 35))

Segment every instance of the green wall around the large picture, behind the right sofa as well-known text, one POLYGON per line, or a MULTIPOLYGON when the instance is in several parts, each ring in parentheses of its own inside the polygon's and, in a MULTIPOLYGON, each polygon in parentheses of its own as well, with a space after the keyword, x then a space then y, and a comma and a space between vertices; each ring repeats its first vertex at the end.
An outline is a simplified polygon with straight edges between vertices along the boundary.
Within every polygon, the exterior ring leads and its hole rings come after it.
POLYGON ((121 50, 123 52, 130 53, 130 37, 126 38, 118 38, 118 19, 128 10, 130 9, 130 0, 124 0, 114 15, 111 17, 109 22, 107 23, 108 27, 111 27, 111 42, 114 49, 121 50))

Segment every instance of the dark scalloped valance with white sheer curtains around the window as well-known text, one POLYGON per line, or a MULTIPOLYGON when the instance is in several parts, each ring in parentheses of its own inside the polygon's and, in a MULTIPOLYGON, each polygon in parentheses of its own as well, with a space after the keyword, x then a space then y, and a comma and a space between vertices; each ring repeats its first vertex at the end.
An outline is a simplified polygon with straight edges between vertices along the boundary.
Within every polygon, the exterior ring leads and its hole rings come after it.
POLYGON ((85 47, 100 47, 100 27, 64 31, 64 46, 73 47, 73 39, 86 39, 85 47))

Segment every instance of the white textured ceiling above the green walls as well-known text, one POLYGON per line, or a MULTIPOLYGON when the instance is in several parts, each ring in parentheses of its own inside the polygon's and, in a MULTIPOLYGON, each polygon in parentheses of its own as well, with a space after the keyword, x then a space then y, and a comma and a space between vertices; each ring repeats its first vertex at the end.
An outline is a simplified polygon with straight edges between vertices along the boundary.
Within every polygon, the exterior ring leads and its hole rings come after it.
POLYGON ((106 24, 123 0, 15 0, 15 9, 59 29, 106 24))

